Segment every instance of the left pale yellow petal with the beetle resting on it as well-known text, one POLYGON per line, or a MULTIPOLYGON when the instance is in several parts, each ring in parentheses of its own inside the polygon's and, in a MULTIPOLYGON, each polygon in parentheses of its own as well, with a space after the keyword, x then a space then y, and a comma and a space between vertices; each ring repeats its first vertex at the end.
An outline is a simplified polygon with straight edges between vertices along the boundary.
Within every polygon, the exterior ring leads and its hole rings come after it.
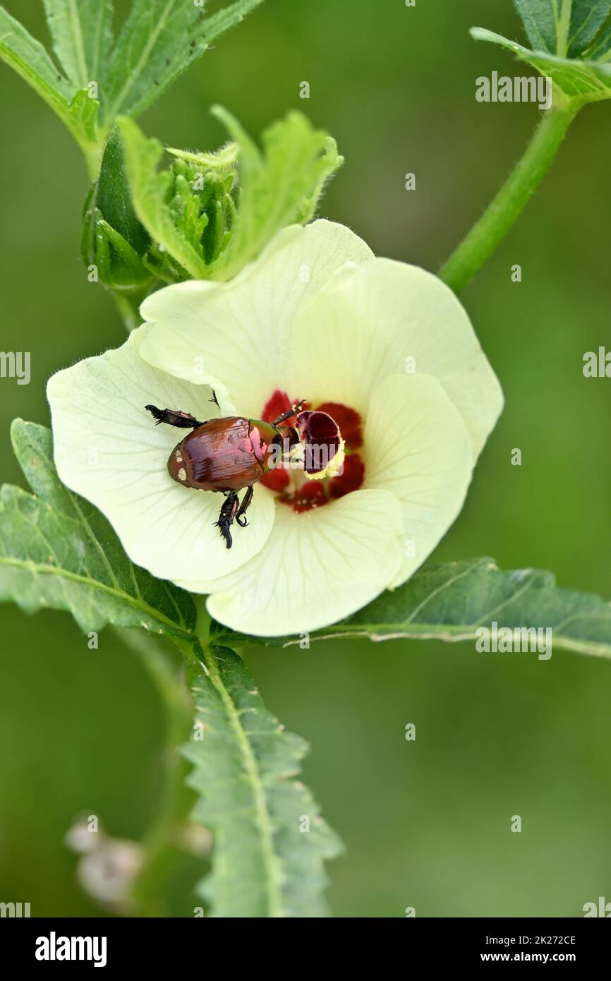
POLYGON ((144 406, 181 409, 202 421, 220 410, 209 388, 181 382, 138 356, 148 330, 139 328, 123 347, 50 379, 55 464, 64 484, 106 515, 136 565, 160 579, 214 580, 265 544, 274 501, 265 488, 255 489, 250 525, 236 529, 228 550, 213 527, 223 495, 171 479, 168 457, 185 431, 155 426, 144 406))

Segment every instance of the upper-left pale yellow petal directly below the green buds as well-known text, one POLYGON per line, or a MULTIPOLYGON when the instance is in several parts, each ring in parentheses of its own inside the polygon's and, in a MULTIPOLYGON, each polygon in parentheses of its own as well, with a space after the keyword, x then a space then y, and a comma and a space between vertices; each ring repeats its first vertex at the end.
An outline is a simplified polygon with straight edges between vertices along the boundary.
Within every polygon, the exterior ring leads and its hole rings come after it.
POLYGON ((259 418, 274 390, 286 387, 290 328, 299 309, 345 263, 371 256, 343 225, 317 221, 284 229, 229 283, 191 281, 145 300, 141 315, 154 326, 141 355, 177 378, 212 385, 236 411, 259 418))

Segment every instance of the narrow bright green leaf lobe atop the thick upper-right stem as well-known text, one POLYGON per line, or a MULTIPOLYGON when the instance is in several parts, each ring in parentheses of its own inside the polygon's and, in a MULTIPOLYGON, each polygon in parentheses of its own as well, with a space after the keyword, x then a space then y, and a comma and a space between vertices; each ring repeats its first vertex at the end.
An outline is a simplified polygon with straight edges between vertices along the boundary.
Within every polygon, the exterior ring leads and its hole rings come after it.
POLYGON ((597 102, 611 98, 611 65, 600 61, 577 61, 559 58, 542 51, 531 51, 516 41, 495 34, 484 27, 472 27, 471 35, 477 41, 491 41, 513 52, 521 61, 528 62, 543 76, 553 79, 558 88, 583 102, 597 102))

